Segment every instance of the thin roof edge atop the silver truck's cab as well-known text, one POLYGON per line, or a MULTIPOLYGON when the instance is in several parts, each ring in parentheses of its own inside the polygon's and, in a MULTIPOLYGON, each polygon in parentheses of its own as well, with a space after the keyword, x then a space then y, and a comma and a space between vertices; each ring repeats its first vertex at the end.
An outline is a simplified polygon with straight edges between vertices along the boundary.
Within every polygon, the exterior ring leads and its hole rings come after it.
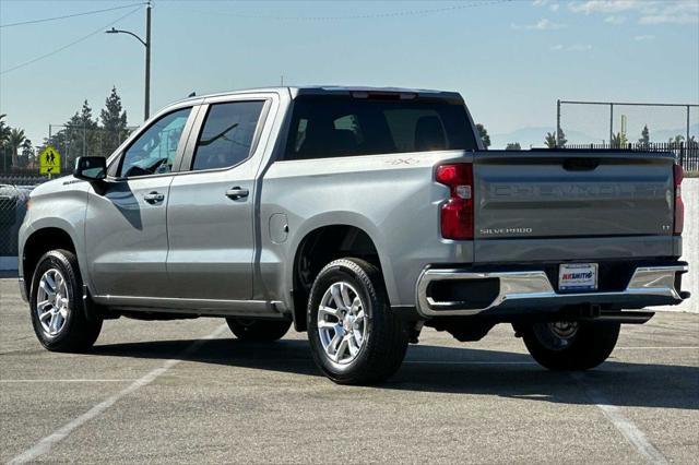
POLYGON ((241 94, 259 94, 265 92, 288 92, 292 98, 299 95, 351 95, 352 93, 376 93, 376 94, 416 94, 418 97, 439 97, 446 99, 459 99, 461 95, 457 92, 433 91, 426 88, 406 88, 406 87, 367 87, 367 86, 340 86, 340 85, 315 85, 315 86, 285 86, 285 87, 259 87, 245 88, 239 91, 220 92, 215 94, 196 95, 183 98, 177 103, 199 100, 208 97, 223 97, 226 95, 241 94))

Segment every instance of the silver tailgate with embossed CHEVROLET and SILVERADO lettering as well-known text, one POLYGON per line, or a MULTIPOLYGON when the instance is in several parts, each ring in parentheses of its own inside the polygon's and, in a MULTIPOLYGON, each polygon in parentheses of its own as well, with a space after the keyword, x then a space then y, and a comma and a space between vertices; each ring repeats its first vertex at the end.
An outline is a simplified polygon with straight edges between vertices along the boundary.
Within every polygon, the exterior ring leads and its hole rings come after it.
POLYGON ((662 236, 671 243, 673 164, 670 154, 620 151, 478 153, 474 239, 524 246, 548 238, 662 236))

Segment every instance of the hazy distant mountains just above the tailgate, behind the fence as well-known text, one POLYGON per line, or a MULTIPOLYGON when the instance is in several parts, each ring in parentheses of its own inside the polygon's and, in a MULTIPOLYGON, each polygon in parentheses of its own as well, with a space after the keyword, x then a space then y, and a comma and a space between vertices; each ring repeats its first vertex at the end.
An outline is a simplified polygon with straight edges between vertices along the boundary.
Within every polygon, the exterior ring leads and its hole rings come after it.
MULTIPOLYGON (((585 134, 584 132, 566 130, 566 139, 571 144, 589 144, 589 143, 600 143, 602 140, 600 138, 592 136, 590 134, 585 134)), ((522 148, 530 147, 544 147, 544 138, 546 138, 547 132, 556 132, 556 128, 550 127, 538 127, 538 128, 521 128, 517 129, 512 132, 501 133, 501 134, 491 134, 490 135, 490 148, 505 148, 510 142, 519 142, 522 148)), ((679 129, 659 129, 653 130, 650 128, 651 133, 651 142, 667 142, 670 138, 675 138, 677 134, 685 135, 687 133, 686 128, 679 129)), ((699 123, 689 126, 689 134, 697 136, 699 134, 699 123)), ((636 142, 641 134, 627 134, 630 142, 636 142)), ((699 139, 699 136, 698 136, 699 139)))

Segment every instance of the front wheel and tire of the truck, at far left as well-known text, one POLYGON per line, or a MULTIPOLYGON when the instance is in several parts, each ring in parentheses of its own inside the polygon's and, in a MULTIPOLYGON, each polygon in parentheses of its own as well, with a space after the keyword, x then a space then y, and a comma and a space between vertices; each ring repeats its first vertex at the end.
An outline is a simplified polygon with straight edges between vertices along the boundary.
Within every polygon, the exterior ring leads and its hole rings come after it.
POLYGON ((73 252, 57 249, 39 259, 32 277, 29 314, 34 333, 47 349, 80 353, 91 348, 97 341, 102 318, 87 319, 82 288, 78 259, 73 252), (52 293, 51 282, 55 285, 52 293), (38 298, 47 303, 39 307, 38 298))

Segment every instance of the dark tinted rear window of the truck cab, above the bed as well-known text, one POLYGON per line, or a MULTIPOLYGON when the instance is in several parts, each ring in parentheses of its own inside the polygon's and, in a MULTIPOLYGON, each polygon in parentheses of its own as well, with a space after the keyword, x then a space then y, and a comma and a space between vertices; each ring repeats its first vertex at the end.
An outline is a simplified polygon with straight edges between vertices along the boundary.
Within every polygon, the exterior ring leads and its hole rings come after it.
POLYGON ((477 150, 462 104, 353 96, 299 96, 284 159, 477 150))

